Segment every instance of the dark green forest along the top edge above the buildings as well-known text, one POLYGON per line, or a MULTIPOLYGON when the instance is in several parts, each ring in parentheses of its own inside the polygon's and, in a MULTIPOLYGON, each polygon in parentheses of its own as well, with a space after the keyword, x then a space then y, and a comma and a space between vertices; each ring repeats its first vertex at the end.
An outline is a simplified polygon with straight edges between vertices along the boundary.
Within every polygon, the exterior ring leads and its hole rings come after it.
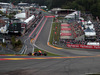
POLYGON ((82 12, 92 13, 93 16, 100 18, 100 0, 0 0, 0 2, 19 2, 38 3, 52 8, 67 8, 81 10, 82 12))

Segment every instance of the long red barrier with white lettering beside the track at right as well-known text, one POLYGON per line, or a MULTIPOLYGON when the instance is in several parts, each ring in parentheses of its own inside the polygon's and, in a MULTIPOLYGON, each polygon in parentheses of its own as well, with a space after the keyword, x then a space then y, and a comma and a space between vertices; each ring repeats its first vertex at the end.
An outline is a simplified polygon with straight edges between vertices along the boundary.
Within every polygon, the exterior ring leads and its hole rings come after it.
POLYGON ((83 48, 83 49, 100 49, 100 46, 81 45, 81 44, 67 44, 67 47, 71 47, 71 48, 83 48))

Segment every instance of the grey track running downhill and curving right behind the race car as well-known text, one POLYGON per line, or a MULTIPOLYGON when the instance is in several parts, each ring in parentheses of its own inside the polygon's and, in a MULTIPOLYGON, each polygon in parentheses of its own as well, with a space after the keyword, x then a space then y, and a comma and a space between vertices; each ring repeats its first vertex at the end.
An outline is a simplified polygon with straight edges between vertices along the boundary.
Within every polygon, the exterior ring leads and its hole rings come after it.
POLYGON ((88 51, 88 50, 81 50, 81 49, 56 49, 54 47, 48 46, 47 42, 48 42, 48 37, 50 34, 50 28, 52 22, 53 22, 53 18, 47 18, 47 21, 35 42, 36 47, 63 56, 81 56, 81 55, 89 56, 89 55, 97 55, 100 53, 100 51, 95 51, 95 50, 88 51))

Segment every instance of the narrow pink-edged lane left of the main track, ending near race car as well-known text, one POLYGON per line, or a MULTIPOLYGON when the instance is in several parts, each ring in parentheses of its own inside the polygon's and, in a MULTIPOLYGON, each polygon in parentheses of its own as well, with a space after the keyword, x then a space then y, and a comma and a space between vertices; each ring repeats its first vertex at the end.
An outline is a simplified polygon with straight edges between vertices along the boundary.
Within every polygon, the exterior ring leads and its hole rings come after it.
POLYGON ((28 54, 32 52, 33 45, 31 44, 31 39, 35 39, 35 37, 38 35, 38 32, 40 31, 44 21, 45 18, 43 17, 40 20, 40 22, 37 24, 37 26, 29 33, 27 39, 25 40, 25 45, 27 46, 27 49, 24 51, 24 54, 28 54))

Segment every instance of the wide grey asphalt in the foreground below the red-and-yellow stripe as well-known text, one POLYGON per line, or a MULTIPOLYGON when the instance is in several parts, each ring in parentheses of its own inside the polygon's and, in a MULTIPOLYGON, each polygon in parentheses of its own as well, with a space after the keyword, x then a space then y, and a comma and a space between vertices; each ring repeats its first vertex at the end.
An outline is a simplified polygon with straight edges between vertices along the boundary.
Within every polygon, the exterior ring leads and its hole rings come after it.
POLYGON ((100 58, 0 61, 0 75, 85 75, 100 72, 100 58))

